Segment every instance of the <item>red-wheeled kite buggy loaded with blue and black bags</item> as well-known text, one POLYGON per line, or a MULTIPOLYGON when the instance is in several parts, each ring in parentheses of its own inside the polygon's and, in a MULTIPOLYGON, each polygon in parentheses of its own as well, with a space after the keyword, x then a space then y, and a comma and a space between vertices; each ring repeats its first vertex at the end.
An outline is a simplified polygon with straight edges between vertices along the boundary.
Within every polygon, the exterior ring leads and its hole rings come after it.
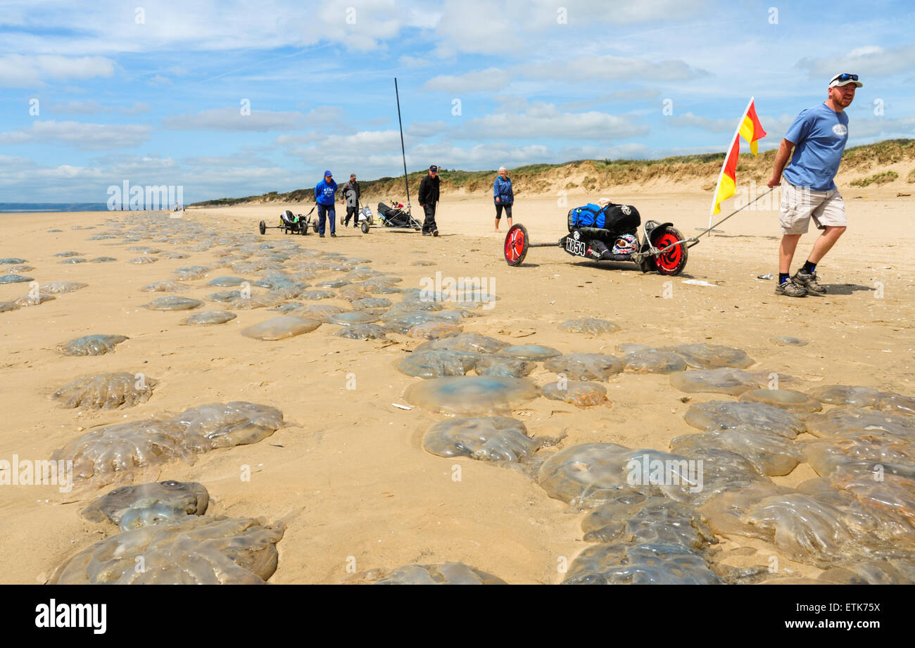
POLYGON ((558 243, 531 243, 520 223, 505 235, 505 261, 521 265, 528 248, 559 246, 567 254, 591 261, 631 261, 642 272, 656 270, 662 275, 679 275, 686 266, 689 248, 698 238, 687 239, 672 222, 645 221, 639 236, 641 218, 632 205, 600 200, 568 213, 568 234, 558 243))

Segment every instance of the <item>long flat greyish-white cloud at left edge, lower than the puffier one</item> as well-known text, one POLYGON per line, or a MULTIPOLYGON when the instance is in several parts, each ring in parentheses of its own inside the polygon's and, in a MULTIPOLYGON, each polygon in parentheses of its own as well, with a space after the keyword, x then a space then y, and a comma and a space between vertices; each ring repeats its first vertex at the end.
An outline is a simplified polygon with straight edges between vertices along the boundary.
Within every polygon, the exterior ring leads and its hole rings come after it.
POLYGON ((131 148, 147 141, 151 131, 150 126, 137 124, 35 121, 27 128, 0 133, 0 144, 65 144, 82 150, 131 148))

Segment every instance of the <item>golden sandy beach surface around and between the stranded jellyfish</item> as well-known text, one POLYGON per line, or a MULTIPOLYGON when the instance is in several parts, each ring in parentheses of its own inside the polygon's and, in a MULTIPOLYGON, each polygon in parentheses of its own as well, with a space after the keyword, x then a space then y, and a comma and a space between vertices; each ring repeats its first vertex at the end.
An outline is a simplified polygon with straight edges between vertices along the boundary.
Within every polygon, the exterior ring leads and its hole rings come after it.
MULTIPOLYGON (((704 237, 690 250, 684 274, 674 277, 643 275, 631 264, 581 262, 555 248, 534 248, 522 266, 510 267, 502 257, 504 221, 502 232, 492 231, 494 210, 485 194, 444 196, 436 219, 442 232, 438 238, 383 228, 362 234, 339 224, 336 239, 313 234, 294 238, 303 248, 371 260, 365 265, 402 277, 398 287, 420 287, 436 272, 445 277, 485 277, 499 299, 492 308, 476 309, 477 317, 464 319, 463 329, 512 344, 621 356, 615 348, 625 342, 708 342, 746 351, 755 361, 750 372, 791 376, 785 384, 791 389, 853 384, 915 395, 915 233, 910 228, 915 198, 898 197, 895 188, 841 189, 849 230, 818 268, 821 283, 830 287, 826 297, 777 297, 773 281, 757 278, 777 271, 775 209, 747 210, 727 221, 723 232, 704 237), (432 265, 414 265, 417 261, 432 265), (557 328, 566 319, 584 317, 609 319, 619 331, 588 339, 557 328), (779 346, 770 341, 776 336, 795 336, 808 344, 779 346)), ((642 221, 673 221, 686 236, 695 235, 708 221, 709 193, 685 187, 680 193, 664 188, 570 193, 565 207, 557 205, 554 194, 519 196, 514 222, 523 223, 535 242, 556 241, 566 233, 568 208, 598 195, 636 205, 642 221)), ((375 211, 378 198, 364 202, 375 211)), ((273 225, 284 207, 194 209, 185 211, 182 220, 198 223, 214 236, 276 243, 293 237, 279 230, 262 236, 257 223, 273 225)), ((304 213, 310 205, 288 207, 304 213)), ((414 207, 414 212, 420 210, 414 207)), ((339 206, 337 213, 339 217, 339 206)), ((287 423, 272 436, 199 455, 193 465, 169 462, 157 476, 204 484, 210 491, 208 515, 285 522, 285 535, 276 545, 278 567, 270 582, 353 582, 371 570, 445 562, 463 562, 509 583, 562 581, 564 573, 557 566, 571 562, 587 545, 582 541, 581 514, 551 499, 524 470, 425 452, 425 430, 444 417, 415 406, 394 406, 405 405, 404 390, 420 380, 398 372, 395 365, 423 340, 399 334, 389 334, 386 340, 349 340, 334 336, 339 327, 328 323, 288 340, 243 337, 242 329, 276 315, 265 308, 237 310, 236 319, 219 326, 181 326, 186 312, 142 308, 171 293, 139 288, 171 278, 179 267, 217 262, 225 246, 190 252, 188 245, 156 236, 129 243, 123 243, 123 237, 86 240, 106 230, 109 220, 135 216, 0 216, 5 225, 0 257, 20 257, 33 266, 18 274, 33 277, 39 285, 88 284, 38 306, 0 315, 5 418, 0 458, 48 458, 95 427, 177 413, 192 405, 270 405, 282 410, 287 423), (74 229, 89 226, 94 229, 74 229), (48 232, 52 229, 61 231, 48 232), (186 252, 188 258, 135 265, 128 260, 137 254, 127 250, 135 245, 186 252), (116 262, 63 265, 54 254, 65 251, 87 258, 112 256, 116 262), (94 333, 129 340, 97 357, 65 357, 58 351, 59 344, 94 333), (50 399, 59 387, 80 376, 122 371, 158 381, 147 402, 102 411, 65 409, 50 399), (240 478, 245 466, 251 469, 250 481, 240 478)), ((156 218, 167 218, 167 213, 156 218)), ((809 251, 813 235, 802 239, 795 265, 809 251)), ((234 272, 226 262, 226 267, 211 268, 204 278, 184 282, 189 289, 179 294, 207 301, 204 308, 221 308, 207 300, 224 289, 208 286, 210 279, 237 275, 254 280, 262 274, 234 272)), ((309 283, 339 275, 328 270, 309 283)), ((0 301, 23 296, 28 286, 0 285, 0 301)), ((396 294, 378 297, 399 300, 396 294)), ((350 309, 348 302, 336 298, 315 303, 350 309)), ((555 375, 541 363, 530 378, 544 385, 555 375)), ((533 436, 565 435, 558 448, 599 441, 668 450, 673 437, 696 432, 684 422, 690 405, 733 400, 720 394, 684 394, 662 374, 624 372, 604 384, 610 406, 582 409, 536 398, 511 414, 533 436)), ((555 450, 540 452, 548 455, 555 450)), ((801 463, 773 481, 794 487, 816 476, 801 463)), ((0 555, 0 579, 46 582, 69 556, 117 533, 113 525, 92 523, 79 514, 95 495, 110 488, 61 493, 55 486, 3 487, 0 535, 5 551, 0 555)), ((778 556, 781 576, 816 578, 821 573, 762 540, 738 535, 718 540, 716 561, 725 565, 765 566, 770 556, 778 556)))

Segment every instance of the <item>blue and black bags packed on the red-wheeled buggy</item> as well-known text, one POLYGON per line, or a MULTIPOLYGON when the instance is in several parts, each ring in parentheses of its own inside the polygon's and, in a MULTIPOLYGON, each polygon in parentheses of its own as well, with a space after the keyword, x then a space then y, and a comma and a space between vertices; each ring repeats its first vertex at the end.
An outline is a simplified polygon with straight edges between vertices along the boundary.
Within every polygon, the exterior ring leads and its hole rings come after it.
POLYGON ((584 255, 596 261, 629 261, 639 250, 639 210, 607 199, 598 203, 569 210, 570 236, 586 245, 584 255))

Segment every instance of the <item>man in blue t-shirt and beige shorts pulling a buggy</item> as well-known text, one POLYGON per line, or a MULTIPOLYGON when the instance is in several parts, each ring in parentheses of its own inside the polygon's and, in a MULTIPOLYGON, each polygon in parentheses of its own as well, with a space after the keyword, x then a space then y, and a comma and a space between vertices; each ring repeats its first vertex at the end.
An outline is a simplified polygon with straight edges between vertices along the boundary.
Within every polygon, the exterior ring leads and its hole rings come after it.
POLYGON ((826 292, 817 283, 816 265, 845 232, 845 203, 835 189, 833 178, 839 170, 848 141, 848 115, 844 111, 862 85, 857 80, 857 74, 836 74, 829 80, 826 101, 802 111, 781 140, 768 183, 770 187, 781 184, 781 243, 776 295, 806 297, 826 292), (797 149, 786 168, 785 163, 795 146, 797 149), (823 233, 813 242, 813 250, 803 267, 791 276, 794 250, 802 234, 807 232, 812 217, 823 233))

